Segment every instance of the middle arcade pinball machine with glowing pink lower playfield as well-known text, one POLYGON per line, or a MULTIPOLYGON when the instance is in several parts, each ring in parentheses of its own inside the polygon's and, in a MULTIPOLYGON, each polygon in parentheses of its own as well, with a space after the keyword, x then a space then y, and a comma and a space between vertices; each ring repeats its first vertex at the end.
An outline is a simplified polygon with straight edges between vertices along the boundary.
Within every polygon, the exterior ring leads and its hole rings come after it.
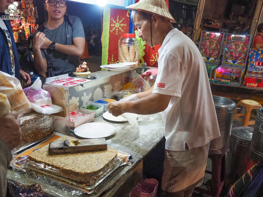
POLYGON ((227 81, 226 84, 239 85, 245 73, 250 35, 227 34, 222 65, 215 71, 214 83, 227 81))

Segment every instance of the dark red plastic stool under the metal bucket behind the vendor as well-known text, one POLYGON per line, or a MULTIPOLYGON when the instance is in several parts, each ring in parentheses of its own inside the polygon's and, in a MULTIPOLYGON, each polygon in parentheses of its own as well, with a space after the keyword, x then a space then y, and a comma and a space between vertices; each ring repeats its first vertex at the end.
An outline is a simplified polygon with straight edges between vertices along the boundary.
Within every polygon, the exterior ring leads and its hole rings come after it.
POLYGON ((224 186, 224 178, 226 174, 226 153, 224 154, 208 154, 208 158, 212 161, 212 171, 205 170, 206 173, 212 174, 211 189, 203 189, 196 187, 195 191, 202 194, 208 194, 212 197, 219 197, 224 186))

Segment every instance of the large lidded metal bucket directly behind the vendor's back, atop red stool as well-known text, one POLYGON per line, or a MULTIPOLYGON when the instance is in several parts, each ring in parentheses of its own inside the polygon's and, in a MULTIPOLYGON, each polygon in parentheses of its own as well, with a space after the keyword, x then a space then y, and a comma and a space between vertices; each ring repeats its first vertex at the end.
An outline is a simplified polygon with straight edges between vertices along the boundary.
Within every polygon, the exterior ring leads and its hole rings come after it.
POLYGON ((210 142, 208 154, 223 154, 229 150, 230 131, 236 103, 219 96, 213 96, 213 100, 221 137, 210 142))

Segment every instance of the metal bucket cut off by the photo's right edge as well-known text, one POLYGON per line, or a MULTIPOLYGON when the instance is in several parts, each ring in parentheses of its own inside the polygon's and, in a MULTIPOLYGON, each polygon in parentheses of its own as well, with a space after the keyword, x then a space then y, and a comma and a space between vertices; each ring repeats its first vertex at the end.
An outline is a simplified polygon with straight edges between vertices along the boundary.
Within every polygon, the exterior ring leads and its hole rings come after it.
POLYGON ((253 161, 263 160, 263 107, 257 109, 249 156, 253 161))

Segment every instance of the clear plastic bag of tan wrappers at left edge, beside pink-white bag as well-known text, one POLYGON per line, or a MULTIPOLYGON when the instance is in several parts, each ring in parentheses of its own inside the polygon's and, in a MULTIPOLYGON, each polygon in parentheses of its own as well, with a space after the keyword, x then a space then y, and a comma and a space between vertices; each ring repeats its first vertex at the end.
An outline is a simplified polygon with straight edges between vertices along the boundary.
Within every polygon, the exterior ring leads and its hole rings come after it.
POLYGON ((0 71, 0 92, 6 94, 11 106, 11 111, 24 114, 31 110, 31 104, 27 99, 20 81, 14 76, 0 71))

